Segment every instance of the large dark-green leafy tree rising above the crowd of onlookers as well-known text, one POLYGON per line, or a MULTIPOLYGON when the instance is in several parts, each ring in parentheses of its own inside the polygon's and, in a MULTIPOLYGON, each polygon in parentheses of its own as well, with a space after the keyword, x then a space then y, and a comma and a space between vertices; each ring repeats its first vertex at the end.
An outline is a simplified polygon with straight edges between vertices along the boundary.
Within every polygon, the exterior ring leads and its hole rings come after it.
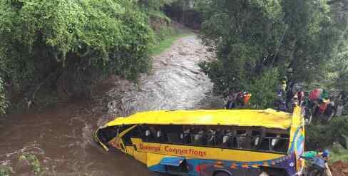
POLYGON ((252 88, 270 68, 292 81, 313 81, 324 73, 337 46, 327 1, 206 0, 198 9, 205 43, 218 55, 201 67, 218 93, 252 88))

